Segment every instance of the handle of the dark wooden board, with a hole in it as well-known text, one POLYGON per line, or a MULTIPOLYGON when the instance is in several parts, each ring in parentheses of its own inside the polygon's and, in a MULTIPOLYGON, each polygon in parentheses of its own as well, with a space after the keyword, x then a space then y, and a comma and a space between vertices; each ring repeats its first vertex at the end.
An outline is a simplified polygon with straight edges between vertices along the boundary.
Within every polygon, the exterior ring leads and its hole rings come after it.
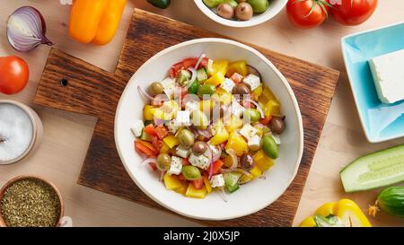
POLYGON ((41 105, 98 117, 114 117, 124 84, 119 75, 52 48, 35 102, 41 105))

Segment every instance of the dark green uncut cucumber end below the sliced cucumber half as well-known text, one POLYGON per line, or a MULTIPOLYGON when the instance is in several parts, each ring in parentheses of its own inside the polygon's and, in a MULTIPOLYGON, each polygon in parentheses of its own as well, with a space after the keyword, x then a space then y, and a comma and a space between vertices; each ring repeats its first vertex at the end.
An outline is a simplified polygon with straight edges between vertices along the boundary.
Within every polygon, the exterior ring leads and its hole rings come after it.
POLYGON ((388 214, 404 217, 404 187, 383 189, 377 197, 376 206, 388 214))

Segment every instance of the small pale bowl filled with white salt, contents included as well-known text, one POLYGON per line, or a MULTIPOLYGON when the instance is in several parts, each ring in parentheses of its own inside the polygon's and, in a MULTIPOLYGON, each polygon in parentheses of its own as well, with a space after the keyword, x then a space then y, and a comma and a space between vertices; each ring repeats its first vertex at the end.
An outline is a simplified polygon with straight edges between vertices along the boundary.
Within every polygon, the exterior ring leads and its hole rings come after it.
POLYGON ((0 100, 0 165, 19 162, 42 141, 38 114, 18 101, 0 100))

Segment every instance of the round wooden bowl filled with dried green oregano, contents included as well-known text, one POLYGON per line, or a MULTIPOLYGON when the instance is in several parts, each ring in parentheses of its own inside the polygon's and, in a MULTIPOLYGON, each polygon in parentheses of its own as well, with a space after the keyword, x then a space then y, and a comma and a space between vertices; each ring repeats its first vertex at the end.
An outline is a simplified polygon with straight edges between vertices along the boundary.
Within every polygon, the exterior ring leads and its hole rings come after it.
POLYGON ((22 175, 0 189, 0 227, 56 227, 65 212, 54 184, 22 175))

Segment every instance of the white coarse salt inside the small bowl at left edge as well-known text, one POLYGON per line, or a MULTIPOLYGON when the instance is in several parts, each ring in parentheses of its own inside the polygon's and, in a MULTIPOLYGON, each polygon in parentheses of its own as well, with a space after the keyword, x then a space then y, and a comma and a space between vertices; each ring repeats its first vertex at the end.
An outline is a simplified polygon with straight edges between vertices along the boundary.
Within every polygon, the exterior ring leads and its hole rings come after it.
POLYGON ((0 163, 21 156, 30 146, 32 137, 30 116, 16 105, 0 103, 0 163))

